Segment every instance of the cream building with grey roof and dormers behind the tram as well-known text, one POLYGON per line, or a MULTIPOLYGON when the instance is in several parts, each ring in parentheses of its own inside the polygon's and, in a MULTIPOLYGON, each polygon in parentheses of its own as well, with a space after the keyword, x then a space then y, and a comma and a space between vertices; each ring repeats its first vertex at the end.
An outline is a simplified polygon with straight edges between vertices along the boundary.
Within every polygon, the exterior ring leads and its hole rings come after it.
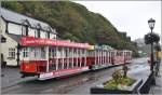
POLYGON ((56 39, 56 31, 46 23, 0 8, 0 63, 2 65, 19 65, 17 45, 24 36, 56 39))

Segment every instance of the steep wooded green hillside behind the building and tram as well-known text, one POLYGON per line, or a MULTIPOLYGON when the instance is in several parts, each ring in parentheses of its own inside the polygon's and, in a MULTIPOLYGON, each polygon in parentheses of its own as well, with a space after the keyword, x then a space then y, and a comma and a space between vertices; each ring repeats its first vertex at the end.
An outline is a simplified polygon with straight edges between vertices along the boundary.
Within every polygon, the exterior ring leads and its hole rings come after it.
POLYGON ((58 38, 91 44, 108 44, 116 49, 136 48, 98 13, 70 1, 2 1, 3 8, 46 22, 56 28, 58 38))

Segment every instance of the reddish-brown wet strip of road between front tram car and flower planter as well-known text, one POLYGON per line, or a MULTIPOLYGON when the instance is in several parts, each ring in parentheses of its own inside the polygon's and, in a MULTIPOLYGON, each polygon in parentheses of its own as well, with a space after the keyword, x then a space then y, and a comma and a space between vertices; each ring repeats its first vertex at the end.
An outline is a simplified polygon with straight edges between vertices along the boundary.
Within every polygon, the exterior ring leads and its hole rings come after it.
POLYGON ((91 72, 90 74, 84 74, 83 77, 80 77, 81 79, 75 79, 75 80, 70 81, 69 83, 64 83, 59 86, 53 87, 43 93, 66 94, 70 91, 73 91, 75 89, 79 87, 80 85, 86 84, 87 82, 94 83, 94 82, 100 80, 100 78, 103 78, 103 76, 107 72, 105 72, 104 70, 98 71, 98 72, 91 72))

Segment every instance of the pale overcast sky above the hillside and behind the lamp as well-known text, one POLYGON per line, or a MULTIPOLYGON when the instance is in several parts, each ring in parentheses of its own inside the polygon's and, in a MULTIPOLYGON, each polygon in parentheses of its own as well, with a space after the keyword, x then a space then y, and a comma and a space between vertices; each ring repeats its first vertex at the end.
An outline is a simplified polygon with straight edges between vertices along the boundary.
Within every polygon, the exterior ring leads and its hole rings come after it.
POLYGON ((154 32, 161 35, 161 1, 75 1, 89 11, 100 13, 119 31, 126 31, 132 40, 150 31, 148 19, 154 18, 154 32))

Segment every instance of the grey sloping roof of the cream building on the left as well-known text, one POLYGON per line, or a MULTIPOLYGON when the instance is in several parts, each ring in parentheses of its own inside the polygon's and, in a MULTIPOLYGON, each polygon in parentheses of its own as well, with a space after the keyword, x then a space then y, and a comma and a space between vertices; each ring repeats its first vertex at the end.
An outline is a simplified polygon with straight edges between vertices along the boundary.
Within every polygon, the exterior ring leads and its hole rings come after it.
POLYGON ((0 8, 0 15, 9 22, 22 24, 22 25, 29 25, 32 28, 40 28, 45 31, 51 31, 56 33, 55 29, 53 29, 49 24, 44 22, 40 22, 38 19, 25 16, 23 14, 0 8))

